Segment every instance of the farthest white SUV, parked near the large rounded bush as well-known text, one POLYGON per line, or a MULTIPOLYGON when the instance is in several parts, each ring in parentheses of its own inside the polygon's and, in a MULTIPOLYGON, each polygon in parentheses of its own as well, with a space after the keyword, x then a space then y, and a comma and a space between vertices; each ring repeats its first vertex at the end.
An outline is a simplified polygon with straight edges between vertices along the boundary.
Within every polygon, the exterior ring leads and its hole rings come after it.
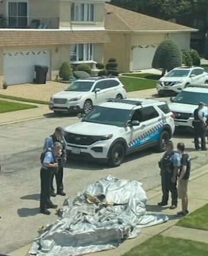
POLYGON ((208 83, 208 74, 203 68, 197 66, 193 68, 174 68, 159 79, 157 91, 159 95, 170 91, 179 93, 189 84, 206 83, 208 83))

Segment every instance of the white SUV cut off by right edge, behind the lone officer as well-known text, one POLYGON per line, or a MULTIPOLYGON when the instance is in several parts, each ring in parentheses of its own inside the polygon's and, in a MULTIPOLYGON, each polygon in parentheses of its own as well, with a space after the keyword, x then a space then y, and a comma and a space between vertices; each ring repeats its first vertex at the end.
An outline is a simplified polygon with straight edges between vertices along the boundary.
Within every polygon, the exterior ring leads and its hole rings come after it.
POLYGON ((208 86, 189 86, 180 92, 176 97, 171 97, 169 107, 175 118, 176 127, 192 127, 194 120, 194 110, 198 107, 199 102, 205 103, 205 117, 208 117, 208 86))

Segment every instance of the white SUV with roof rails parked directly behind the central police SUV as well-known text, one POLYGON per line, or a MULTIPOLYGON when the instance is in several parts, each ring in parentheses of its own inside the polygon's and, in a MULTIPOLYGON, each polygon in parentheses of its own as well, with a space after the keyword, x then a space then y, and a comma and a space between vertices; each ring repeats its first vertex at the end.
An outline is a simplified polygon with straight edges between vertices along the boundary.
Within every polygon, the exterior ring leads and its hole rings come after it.
POLYGON ((54 113, 83 110, 89 113, 92 106, 108 98, 127 97, 124 85, 116 77, 90 77, 74 81, 64 91, 54 94, 49 102, 54 113))

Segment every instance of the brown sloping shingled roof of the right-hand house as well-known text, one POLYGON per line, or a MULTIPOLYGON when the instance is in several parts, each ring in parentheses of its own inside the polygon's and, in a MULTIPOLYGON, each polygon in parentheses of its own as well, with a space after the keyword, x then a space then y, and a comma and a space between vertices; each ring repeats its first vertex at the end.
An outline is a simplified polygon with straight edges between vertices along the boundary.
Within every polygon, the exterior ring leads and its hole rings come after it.
POLYGON ((106 20, 105 28, 109 31, 198 31, 198 29, 186 27, 159 18, 150 17, 131 10, 105 4, 106 20))

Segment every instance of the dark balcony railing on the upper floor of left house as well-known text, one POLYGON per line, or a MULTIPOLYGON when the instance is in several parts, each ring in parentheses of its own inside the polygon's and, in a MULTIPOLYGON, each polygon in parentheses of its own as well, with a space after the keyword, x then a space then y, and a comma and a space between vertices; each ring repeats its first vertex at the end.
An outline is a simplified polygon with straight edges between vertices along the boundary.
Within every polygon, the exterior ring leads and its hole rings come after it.
POLYGON ((3 16, 0 15, 0 28, 59 28, 59 18, 3 16))

